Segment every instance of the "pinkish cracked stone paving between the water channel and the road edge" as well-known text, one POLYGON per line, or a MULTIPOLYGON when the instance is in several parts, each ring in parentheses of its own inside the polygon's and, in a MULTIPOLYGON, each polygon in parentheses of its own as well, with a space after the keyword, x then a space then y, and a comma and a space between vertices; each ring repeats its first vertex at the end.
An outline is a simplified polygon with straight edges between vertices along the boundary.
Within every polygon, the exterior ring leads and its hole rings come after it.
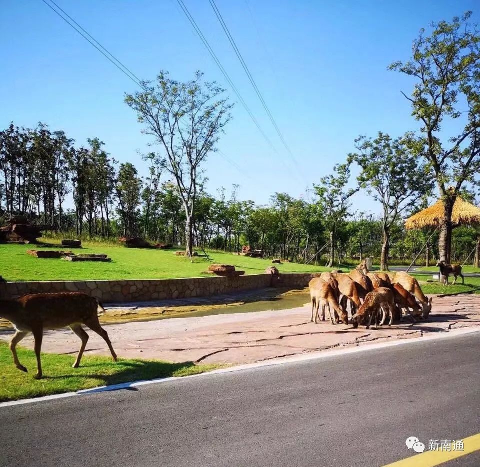
MULTIPOLYGON (((478 295, 434 298, 427 322, 405 321, 378 330, 332 326, 326 321, 310 323, 310 307, 306 305, 289 310, 132 322, 104 328, 120 357, 240 364, 372 341, 409 339, 465 326, 480 326, 478 295)), ((11 334, 0 332, 0 338, 9 339, 11 334)), ((85 354, 109 355, 104 341, 91 331, 89 335, 85 354)), ((22 345, 32 348, 32 336, 26 337, 22 345)), ((79 340, 69 329, 45 332, 43 352, 75 354, 78 348, 79 340)))

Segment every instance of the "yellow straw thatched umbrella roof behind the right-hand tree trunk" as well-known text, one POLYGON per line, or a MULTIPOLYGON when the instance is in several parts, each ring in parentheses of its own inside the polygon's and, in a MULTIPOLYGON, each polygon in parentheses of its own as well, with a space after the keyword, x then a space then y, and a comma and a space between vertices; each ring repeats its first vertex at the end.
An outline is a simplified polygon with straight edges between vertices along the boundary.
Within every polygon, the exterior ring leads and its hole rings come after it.
MULTIPOLYGON (((428 206, 405 220, 406 229, 421 229, 423 227, 437 227, 443 219, 443 203, 439 199, 435 204, 428 206)), ((454 224, 479 224, 480 208, 463 201, 458 196, 453 204, 451 221, 454 224)))

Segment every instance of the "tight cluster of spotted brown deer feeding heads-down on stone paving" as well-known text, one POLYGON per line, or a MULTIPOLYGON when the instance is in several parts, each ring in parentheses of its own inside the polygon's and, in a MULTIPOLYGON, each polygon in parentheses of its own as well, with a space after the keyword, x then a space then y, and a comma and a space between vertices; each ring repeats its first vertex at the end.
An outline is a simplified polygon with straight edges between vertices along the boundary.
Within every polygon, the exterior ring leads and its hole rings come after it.
MULTIPOLYGON (((456 278, 456 276, 455 276, 456 278)), ((311 319, 325 320, 325 308, 331 324, 348 324, 347 304, 350 305, 351 324, 368 329, 372 319, 375 327, 384 324, 389 315, 401 321, 403 312, 412 321, 427 319, 431 310, 431 298, 427 299, 417 280, 403 271, 391 273, 369 272, 362 262, 348 274, 322 272, 308 283, 311 300, 311 319), (417 303, 417 300, 419 303, 417 303), (380 318, 381 313, 381 318, 380 318)))

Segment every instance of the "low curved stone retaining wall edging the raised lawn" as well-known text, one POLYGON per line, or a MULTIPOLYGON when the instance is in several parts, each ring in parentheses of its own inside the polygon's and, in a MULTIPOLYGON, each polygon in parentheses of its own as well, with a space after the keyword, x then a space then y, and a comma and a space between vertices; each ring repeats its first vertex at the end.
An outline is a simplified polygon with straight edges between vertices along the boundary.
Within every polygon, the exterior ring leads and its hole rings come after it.
POLYGON ((28 293, 85 292, 101 302, 130 302, 186 297, 205 297, 263 289, 265 287, 303 288, 319 274, 251 274, 244 276, 208 276, 187 279, 151 279, 116 281, 42 281, 0 283, 0 298, 14 298, 28 293))

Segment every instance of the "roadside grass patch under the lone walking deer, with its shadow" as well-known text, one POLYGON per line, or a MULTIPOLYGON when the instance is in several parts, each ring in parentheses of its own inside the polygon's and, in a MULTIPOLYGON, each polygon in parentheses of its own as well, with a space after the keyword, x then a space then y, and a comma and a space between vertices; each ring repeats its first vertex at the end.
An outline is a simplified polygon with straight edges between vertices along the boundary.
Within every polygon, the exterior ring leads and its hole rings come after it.
POLYGON ((41 354, 43 378, 33 379, 36 359, 32 350, 17 346, 18 359, 28 369, 15 368, 10 349, 0 341, 0 402, 50 394, 67 393, 95 386, 128 381, 151 380, 169 376, 188 376, 220 368, 221 365, 195 365, 193 362, 169 363, 160 360, 119 359, 83 356, 80 367, 71 368, 72 355, 41 354))

